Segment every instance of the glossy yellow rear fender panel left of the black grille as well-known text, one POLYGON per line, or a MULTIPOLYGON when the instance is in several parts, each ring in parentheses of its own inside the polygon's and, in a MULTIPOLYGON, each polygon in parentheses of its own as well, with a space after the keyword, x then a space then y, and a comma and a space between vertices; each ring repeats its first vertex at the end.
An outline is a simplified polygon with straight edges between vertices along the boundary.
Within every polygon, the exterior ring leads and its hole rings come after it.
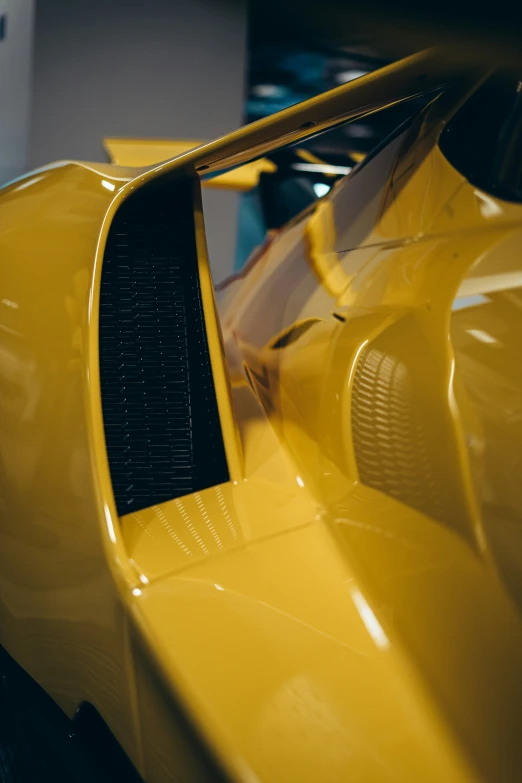
POLYGON ((140 767, 118 590, 138 575, 114 528, 106 561, 86 415, 93 262, 124 182, 66 163, 1 191, 0 643, 69 715, 93 700, 140 767))

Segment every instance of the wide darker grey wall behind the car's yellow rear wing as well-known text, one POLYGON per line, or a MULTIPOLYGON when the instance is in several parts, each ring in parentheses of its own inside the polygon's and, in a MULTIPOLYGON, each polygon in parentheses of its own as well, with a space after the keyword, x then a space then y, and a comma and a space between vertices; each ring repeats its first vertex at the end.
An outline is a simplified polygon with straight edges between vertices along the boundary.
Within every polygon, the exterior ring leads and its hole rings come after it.
MULTIPOLYGON (((234 130, 246 15, 246 0, 38 0, 31 165, 104 160, 104 136, 212 139, 234 130)), ((234 265, 238 199, 205 193, 204 206, 218 281, 234 265)))

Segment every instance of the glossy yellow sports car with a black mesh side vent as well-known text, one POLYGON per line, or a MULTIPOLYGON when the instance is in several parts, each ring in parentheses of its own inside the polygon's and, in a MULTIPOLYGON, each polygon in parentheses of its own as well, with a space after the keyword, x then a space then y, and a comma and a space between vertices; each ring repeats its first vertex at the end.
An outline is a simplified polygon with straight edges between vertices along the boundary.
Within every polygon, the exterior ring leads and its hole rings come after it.
POLYGON ((521 147, 429 51, 0 191, 2 780, 522 778, 521 147), (214 294, 202 177, 419 96, 214 294))

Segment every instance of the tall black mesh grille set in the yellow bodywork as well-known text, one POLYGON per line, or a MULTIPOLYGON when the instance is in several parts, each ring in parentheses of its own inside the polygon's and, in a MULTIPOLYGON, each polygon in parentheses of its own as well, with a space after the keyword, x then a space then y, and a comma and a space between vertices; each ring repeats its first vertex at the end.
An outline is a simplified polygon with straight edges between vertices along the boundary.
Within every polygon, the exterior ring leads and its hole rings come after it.
POLYGON ((120 515, 228 480, 199 288, 191 182, 120 207, 100 291, 105 438, 120 515))

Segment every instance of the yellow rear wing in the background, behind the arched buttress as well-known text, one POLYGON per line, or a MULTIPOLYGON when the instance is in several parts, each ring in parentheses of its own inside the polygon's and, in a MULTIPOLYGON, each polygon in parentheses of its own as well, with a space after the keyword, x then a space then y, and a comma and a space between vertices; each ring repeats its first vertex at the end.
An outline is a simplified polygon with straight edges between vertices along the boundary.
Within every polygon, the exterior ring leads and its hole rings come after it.
MULTIPOLYGON (((116 139, 103 140, 111 162, 117 166, 153 166, 177 158, 190 150, 203 146, 203 141, 181 141, 178 139, 116 139)), ((232 171, 204 179, 205 188, 248 191, 259 184, 263 172, 274 172, 277 166, 266 158, 253 160, 232 171)))

